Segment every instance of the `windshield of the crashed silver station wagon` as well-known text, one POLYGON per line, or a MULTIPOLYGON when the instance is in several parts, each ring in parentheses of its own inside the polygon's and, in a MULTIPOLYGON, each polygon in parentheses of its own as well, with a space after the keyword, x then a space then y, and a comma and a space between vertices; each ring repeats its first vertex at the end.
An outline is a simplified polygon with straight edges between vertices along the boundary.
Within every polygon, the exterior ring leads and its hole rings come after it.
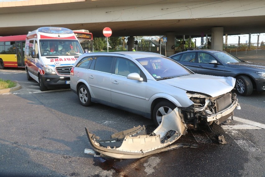
POLYGON ((192 74, 191 71, 166 57, 146 57, 136 59, 156 80, 170 79, 192 74))

